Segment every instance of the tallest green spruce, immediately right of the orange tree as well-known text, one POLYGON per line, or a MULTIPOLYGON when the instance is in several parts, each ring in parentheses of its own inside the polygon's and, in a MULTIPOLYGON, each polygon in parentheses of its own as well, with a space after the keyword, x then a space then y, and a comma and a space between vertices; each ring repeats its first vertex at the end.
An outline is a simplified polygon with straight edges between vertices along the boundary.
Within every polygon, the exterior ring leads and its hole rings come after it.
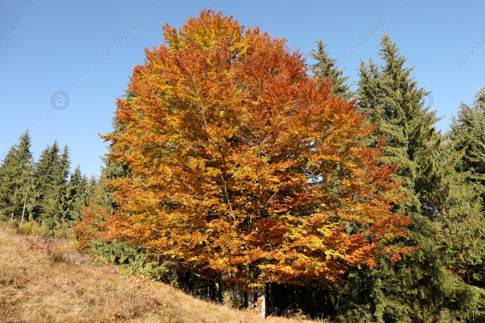
POLYGON ((328 294, 332 314, 340 322, 483 322, 483 290, 457 275, 483 256, 481 199, 456 171, 461 154, 436 131, 436 113, 423 108, 429 92, 386 33, 381 46, 382 66, 361 61, 358 105, 376 124, 369 144, 385 135, 383 161, 401 165, 396 180, 408 199, 395 209, 413 222, 409 237, 394 243, 417 249, 396 263, 354 268, 343 289, 328 294))

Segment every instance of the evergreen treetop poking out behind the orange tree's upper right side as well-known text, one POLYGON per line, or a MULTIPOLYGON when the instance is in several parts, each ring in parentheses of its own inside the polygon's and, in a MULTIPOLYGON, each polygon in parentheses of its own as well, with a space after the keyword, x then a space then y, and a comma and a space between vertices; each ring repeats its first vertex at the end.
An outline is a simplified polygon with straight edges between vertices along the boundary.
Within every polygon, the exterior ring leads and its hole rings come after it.
POLYGON ((353 93, 350 91, 349 85, 346 81, 349 77, 342 77, 344 69, 339 71, 339 67, 335 65, 337 59, 328 57, 328 53, 325 51, 326 44, 323 44, 323 40, 316 41, 317 50, 313 49, 309 55, 311 58, 317 61, 315 64, 310 64, 309 68, 314 75, 320 79, 329 79, 334 87, 332 93, 342 97, 345 101, 349 101, 353 97, 353 93))

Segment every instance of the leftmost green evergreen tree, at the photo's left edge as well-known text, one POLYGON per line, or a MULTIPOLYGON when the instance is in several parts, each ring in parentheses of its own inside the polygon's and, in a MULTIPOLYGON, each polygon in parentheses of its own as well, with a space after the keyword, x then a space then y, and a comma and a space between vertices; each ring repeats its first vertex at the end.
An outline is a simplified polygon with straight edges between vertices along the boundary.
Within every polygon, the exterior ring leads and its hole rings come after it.
POLYGON ((0 210, 4 216, 19 219, 31 192, 31 137, 27 129, 13 145, 0 165, 0 210))

